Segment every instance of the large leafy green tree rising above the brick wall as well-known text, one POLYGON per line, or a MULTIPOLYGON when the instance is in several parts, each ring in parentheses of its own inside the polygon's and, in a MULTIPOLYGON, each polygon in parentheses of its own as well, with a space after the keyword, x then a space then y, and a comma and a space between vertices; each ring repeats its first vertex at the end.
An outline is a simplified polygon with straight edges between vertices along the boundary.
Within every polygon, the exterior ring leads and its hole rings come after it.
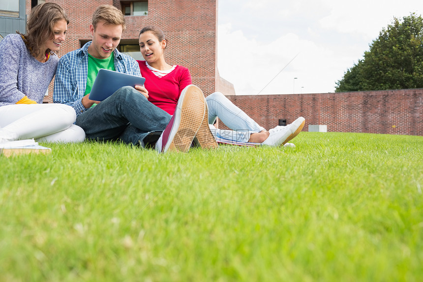
POLYGON ((423 19, 415 13, 391 25, 336 82, 335 92, 423 88, 423 19))

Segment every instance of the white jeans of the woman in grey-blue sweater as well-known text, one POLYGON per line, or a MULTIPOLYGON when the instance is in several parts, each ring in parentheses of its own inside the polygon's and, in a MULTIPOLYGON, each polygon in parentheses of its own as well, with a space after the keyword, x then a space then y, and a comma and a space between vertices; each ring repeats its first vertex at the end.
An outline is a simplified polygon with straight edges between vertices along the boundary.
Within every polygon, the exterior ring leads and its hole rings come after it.
POLYGON ((73 125, 75 119, 75 110, 63 104, 0 107, 0 128, 17 134, 18 140, 34 138, 42 142, 83 142, 85 132, 73 125))

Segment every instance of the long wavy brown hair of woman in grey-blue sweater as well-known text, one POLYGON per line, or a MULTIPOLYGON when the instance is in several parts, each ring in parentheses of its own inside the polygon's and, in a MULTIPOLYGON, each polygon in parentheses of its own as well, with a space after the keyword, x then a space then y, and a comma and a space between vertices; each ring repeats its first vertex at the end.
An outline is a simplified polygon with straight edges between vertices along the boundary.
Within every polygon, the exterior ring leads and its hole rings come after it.
POLYGON ((65 20, 69 24, 69 19, 66 16, 63 8, 56 3, 42 3, 36 5, 31 9, 30 19, 27 22, 27 33, 22 34, 25 45, 30 53, 35 58, 41 57, 45 52, 52 52, 52 50, 42 50, 45 42, 54 38, 54 25, 60 21, 65 20))

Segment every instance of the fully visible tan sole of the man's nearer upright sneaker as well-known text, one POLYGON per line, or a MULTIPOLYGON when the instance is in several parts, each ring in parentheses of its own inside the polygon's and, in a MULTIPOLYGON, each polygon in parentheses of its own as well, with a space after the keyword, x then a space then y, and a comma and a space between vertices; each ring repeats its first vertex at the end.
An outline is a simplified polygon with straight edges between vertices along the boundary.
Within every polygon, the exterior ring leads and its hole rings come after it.
POLYGON ((182 99, 179 109, 181 112, 180 124, 172 141, 165 146, 163 152, 188 152, 204 119, 205 99, 201 89, 196 86, 189 87, 182 99))

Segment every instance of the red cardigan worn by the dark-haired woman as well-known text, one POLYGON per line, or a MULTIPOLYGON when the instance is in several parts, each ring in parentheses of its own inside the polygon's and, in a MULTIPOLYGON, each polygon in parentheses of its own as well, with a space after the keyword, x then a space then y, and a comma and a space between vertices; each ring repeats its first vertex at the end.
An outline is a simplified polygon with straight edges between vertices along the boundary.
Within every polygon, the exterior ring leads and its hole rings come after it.
POLYGON ((186 67, 177 65, 163 77, 158 77, 147 67, 146 61, 137 61, 141 75, 146 79, 144 87, 149 92, 149 101, 173 115, 182 90, 192 84, 191 74, 186 67))

